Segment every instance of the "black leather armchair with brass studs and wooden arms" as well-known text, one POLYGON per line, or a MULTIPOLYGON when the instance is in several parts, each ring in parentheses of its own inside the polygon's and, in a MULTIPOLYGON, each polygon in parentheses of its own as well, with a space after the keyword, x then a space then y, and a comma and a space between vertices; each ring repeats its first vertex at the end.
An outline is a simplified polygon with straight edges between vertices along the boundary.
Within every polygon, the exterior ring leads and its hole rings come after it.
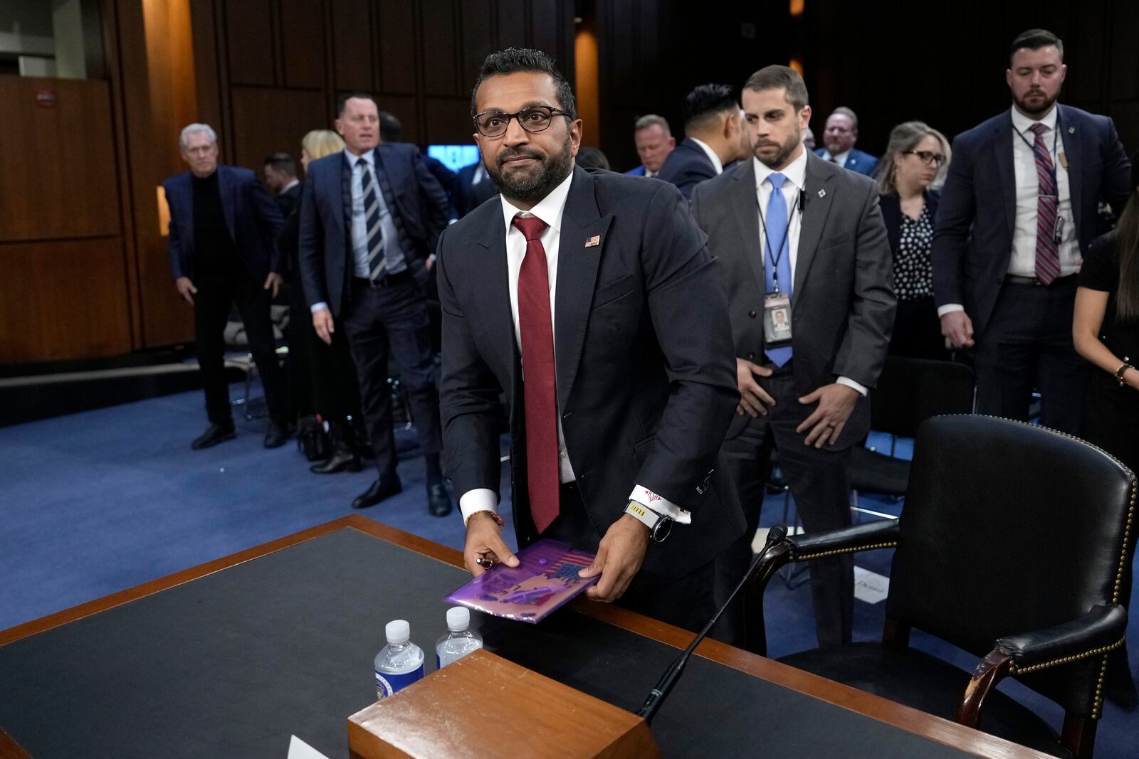
POLYGON ((793 536, 765 554, 747 588, 746 647, 765 654, 762 578, 775 564, 896 547, 882 643, 781 661, 1056 756, 1090 757, 1108 654, 1126 633, 1134 503, 1131 471, 1076 438, 991 416, 931 419, 900 520, 793 536), (976 655, 972 677, 910 649, 911 628, 976 655), (994 690, 1005 677, 1064 709, 1063 737, 994 690))

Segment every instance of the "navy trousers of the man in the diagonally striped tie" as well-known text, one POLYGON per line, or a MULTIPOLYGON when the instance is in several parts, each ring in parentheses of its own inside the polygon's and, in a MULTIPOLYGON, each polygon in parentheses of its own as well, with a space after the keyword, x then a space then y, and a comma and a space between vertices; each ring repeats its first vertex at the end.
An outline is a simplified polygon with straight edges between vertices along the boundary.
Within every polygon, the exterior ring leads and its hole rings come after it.
POLYGON ((420 449, 425 454, 443 449, 429 322, 423 292, 410 273, 395 274, 377 287, 370 287, 367 280, 352 279, 344 331, 355 362, 363 418, 382 477, 395 472, 392 394, 387 385, 390 354, 400 365, 420 449))

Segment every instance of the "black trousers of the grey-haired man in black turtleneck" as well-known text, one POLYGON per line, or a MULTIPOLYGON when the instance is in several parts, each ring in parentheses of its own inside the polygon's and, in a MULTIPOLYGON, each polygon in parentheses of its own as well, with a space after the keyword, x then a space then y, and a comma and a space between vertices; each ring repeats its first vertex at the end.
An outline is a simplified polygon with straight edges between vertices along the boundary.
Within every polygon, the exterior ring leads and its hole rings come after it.
POLYGON ((285 426, 288 415, 285 377, 274 353, 273 327, 269 319, 269 291, 248 274, 197 277, 194 296, 194 333, 198 344, 198 364, 206 394, 206 414, 214 424, 231 426, 233 415, 226 382, 226 322, 231 304, 237 304, 249 340, 249 353, 261 374, 270 418, 285 426))

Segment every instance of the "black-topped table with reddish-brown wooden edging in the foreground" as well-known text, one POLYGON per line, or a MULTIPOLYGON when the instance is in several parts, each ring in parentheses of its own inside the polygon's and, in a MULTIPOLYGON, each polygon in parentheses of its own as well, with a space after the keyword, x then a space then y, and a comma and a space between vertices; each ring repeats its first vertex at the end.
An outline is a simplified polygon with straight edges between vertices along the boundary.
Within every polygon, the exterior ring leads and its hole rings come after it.
MULTIPOLYGON (((0 758, 281 759, 290 734, 345 757, 384 625, 408 619, 434 670, 459 562, 347 517, 0 632, 0 758)), ((630 710, 689 640, 584 601, 473 622, 489 650, 630 710)), ((653 724, 665 757, 1041 756, 714 641, 699 653, 653 724)))

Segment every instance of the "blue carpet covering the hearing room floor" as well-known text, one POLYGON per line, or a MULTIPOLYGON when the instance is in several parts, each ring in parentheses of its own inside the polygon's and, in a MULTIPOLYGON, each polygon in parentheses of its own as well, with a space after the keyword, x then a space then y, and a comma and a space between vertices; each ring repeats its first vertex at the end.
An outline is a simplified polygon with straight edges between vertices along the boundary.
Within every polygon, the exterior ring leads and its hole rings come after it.
MULTIPOLYGON (((239 385, 232 394, 240 395, 239 385)), ((274 451, 262 447, 263 420, 249 422, 237 413, 236 422, 236 440, 191 451, 190 440, 206 424, 202 394, 195 391, 0 428, 0 629, 353 513, 352 498, 375 478, 374 469, 312 475, 292 442, 274 451)), ((461 548, 458 510, 446 518, 427 513, 413 434, 398 439, 405 452, 403 493, 354 513, 461 548)), ((885 436, 871 435, 870 444, 888 451, 885 436)), ((908 457, 911 449, 911 442, 899 442, 898 455, 908 457)), ((506 464, 502 484, 508 510, 506 464)), ((902 508, 866 495, 860 504, 891 514, 902 508)), ((762 523, 778 521, 782 510, 784 497, 769 496, 762 523)), ((866 553, 857 563, 888 576, 891 556, 891 551, 866 553)), ((814 645, 806 584, 788 589, 777 578, 765 605, 770 655, 814 645)), ((880 637, 884 605, 855 601, 855 640, 880 637)), ((1129 633, 1132 670, 1139 670, 1137 628, 1129 633)), ((966 670, 976 663, 919 632, 911 644, 966 670)), ((1001 688, 1059 727, 1063 715, 1055 704, 1015 683, 1001 688)), ((1134 757, 1136 745, 1139 715, 1108 704, 1097 756, 1134 757)))

